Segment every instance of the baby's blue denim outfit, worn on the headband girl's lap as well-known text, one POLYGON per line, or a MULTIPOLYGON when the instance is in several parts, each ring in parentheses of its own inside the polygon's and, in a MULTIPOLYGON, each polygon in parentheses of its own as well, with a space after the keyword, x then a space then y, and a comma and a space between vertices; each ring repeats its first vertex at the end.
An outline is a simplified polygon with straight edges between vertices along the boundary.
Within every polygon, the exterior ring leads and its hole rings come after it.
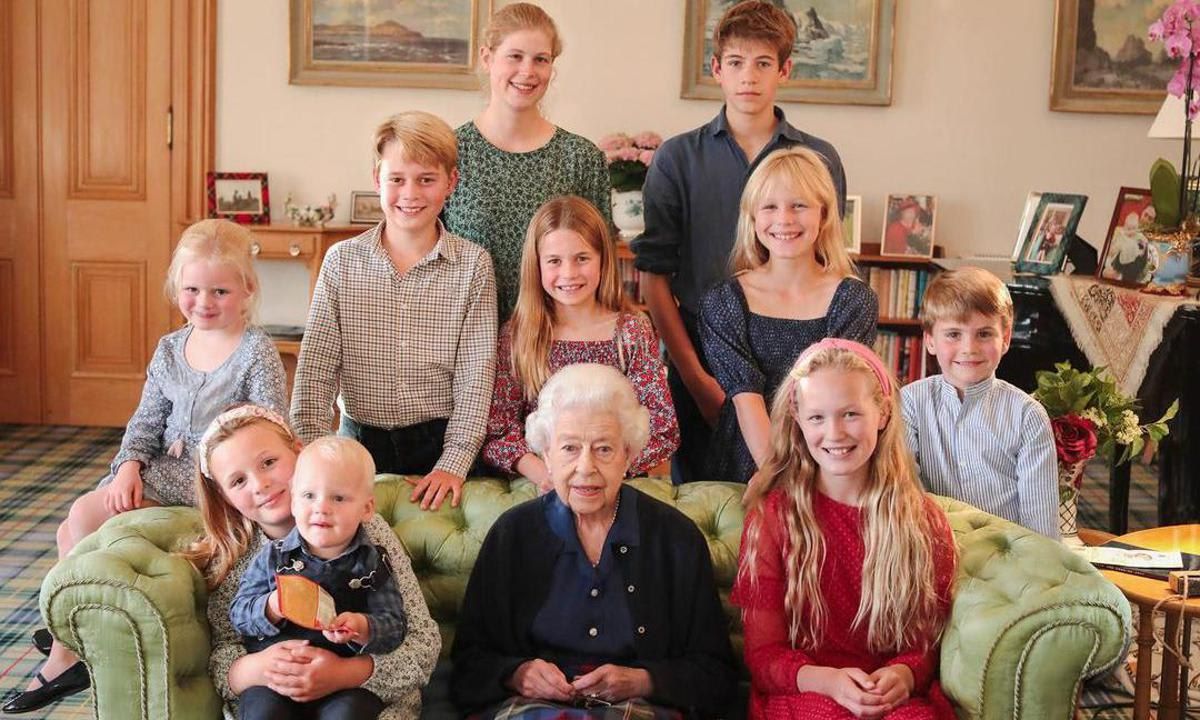
POLYGON ((354 654, 352 648, 329 642, 317 630, 287 619, 275 625, 266 618, 266 598, 275 590, 276 574, 300 575, 316 582, 334 598, 340 613, 366 614, 371 640, 366 646, 355 646, 359 653, 386 654, 404 641, 408 630, 404 600, 386 558, 371 544, 362 526, 346 552, 330 560, 310 553, 300 529, 292 528, 282 540, 269 542, 254 556, 229 606, 229 622, 252 653, 281 640, 295 638, 307 640, 338 655, 354 654))

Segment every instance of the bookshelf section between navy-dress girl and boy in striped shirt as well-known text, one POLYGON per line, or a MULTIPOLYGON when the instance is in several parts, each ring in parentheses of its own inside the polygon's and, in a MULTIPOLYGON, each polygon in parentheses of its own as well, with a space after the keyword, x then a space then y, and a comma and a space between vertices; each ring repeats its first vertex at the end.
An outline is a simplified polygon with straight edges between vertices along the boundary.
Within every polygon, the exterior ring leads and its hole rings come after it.
POLYGON ((863 252, 852 258, 859 277, 880 299, 875 353, 901 384, 919 380, 931 370, 936 372, 936 360, 924 348, 920 300, 937 265, 931 258, 881 256, 880 246, 872 242, 864 242, 863 252))

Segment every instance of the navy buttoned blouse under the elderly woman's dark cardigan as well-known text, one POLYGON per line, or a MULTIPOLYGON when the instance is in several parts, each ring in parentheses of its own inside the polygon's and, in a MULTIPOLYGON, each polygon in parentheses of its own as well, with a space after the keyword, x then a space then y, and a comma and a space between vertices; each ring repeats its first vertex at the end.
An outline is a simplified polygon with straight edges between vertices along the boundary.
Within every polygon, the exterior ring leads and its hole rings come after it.
POLYGON ((558 493, 547 493, 545 511, 550 529, 563 541, 554 562, 546 602, 534 618, 530 634, 545 648, 542 658, 570 678, 606 662, 629 665, 636 656, 629 588, 613 553, 637 546, 637 492, 622 486, 617 518, 608 528, 600 563, 593 568, 575 529, 575 514, 558 493))

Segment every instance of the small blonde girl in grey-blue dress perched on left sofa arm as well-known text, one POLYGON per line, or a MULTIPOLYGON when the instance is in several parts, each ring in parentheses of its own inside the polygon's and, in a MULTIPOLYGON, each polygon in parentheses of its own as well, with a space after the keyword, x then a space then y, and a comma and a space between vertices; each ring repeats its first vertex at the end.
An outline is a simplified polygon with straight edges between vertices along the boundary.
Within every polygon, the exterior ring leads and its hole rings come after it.
MULTIPOLYGON (((224 220, 184 230, 166 293, 187 324, 158 341, 112 473, 77 499, 59 526, 59 557, 114 515, 193 504, 194 449, 226 407, 253 402, 287 412, 278 352, 250 323, 258 295, 251 242, 250 230, 224 220)), ((55 642, 25 692, 4 710, 28 712, 86 686, 86 668, 55 642)))

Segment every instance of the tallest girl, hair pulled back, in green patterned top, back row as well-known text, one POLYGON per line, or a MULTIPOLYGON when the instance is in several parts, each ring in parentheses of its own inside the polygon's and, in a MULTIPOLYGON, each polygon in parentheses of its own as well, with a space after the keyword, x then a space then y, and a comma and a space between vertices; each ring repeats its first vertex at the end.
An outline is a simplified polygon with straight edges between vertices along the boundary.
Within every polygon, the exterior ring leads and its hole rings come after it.
POLYGON ((554 20, 536 5, 514 2, 496 11, 481 53, 487 107, 455 131, 458 186, 444 220, 451 233, 491 253, 500 323, 516 307, 524 232, 542 203, 580 196, 612 223, 604 152, 557 127, 539 107, 562 52, 554 20))

